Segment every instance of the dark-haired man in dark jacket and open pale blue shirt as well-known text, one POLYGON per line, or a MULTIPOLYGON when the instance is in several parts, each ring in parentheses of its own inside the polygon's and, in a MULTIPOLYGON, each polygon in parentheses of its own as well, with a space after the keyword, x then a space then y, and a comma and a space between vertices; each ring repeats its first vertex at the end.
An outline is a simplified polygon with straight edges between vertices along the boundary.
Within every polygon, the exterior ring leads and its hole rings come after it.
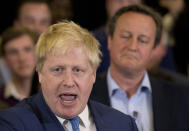
POLYGON ((91 98, 133 116, 139 131, 188 131, 189 83, 147 72, 162 34, 152 9, 123 7, 108 28, 110 67, 97 77, 91 98))

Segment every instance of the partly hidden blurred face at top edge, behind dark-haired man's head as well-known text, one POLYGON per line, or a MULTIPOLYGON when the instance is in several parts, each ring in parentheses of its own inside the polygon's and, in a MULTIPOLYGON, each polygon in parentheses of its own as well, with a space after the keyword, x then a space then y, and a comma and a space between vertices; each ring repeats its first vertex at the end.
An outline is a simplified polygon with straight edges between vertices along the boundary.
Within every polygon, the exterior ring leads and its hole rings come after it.
POLYGON ((113 15, 122 7, 140 3, 142 0, 106 0, 106 10, 108 18, 113 15))

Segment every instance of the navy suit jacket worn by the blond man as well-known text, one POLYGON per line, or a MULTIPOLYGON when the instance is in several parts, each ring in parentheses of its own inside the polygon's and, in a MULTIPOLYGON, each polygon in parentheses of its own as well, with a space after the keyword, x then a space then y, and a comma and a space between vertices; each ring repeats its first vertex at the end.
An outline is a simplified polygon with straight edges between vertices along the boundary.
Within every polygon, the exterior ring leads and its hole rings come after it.
MULTIPOLYGON (((100 103, 89 101, 97 131, 138 131, 130 116, 100 103)), ((1 131, 63 131, 42 93, 0 112, 1 131)))

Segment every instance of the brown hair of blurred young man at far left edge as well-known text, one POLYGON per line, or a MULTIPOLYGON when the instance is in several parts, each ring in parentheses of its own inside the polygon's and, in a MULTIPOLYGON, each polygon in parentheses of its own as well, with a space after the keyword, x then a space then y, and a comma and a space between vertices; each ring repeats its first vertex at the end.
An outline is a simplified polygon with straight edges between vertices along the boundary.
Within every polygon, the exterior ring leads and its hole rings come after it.
POLYGON ((16 38, 19 38, 23 35, 28 35, 35 43, 37 43, 37 39, 38 39, 38 35, 24 27, 9 27, 8 29, 6 29, 2 35, 1 35, 1 55, 5 55, 5 46, 6 44, 16 38))

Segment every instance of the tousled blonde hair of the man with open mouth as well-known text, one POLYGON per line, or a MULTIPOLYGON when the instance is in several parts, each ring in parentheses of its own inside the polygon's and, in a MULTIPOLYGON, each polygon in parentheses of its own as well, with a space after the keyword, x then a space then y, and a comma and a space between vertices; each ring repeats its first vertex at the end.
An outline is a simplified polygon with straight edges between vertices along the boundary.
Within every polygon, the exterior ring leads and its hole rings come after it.
POLYGON ((83 47, 89 62, 96 70, 101 62, 99 42, 87 31, 72 21, 63 21, 50 26, 42 33, 36 45, 37 71, 41 71, 49 55, 61 51, 65 53, 73 47, 83 47))

